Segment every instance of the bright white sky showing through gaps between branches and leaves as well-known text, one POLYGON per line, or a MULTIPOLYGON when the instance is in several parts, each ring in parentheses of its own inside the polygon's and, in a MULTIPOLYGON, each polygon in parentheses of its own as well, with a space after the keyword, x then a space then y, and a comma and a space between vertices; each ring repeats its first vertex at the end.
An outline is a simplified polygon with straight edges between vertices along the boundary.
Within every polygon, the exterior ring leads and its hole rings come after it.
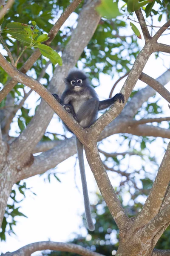
MULTIPOLYGON (((74 22, 74 14, 67 21, 74 22)), ((132 34, 130 26, 127 27, 127 34, 132 34)), ((162 36, 161 42, 165 43, 170 41, 170 35, 162 36)), ((144 41, 139 40, 139 44, 143 45, 144 41)), ((152 55, 144 67, 144 73, 157 78, 162 73, 164 73, 169 67, 170 58, 169 56, 162 55, 164 58, 164 65, 161 59, 155 61, 154 55, 152 55)), ((49 67, 48 72, 51 74, 51 67, 49 67)), ((107 99, 110 93, 113 83, 119 77, 115 75, 113 79, 110 76, 100 74, 100 86, 96 88, 96 92, 99 95, 99 99, 107 99), (107 84, 107 86, 106 86, 107 84)), ((114 93, 119 93, 125 79, 123 79, 117 86, 114 93)), ((139 87, 145 87, 146 84, 138 82, 135 89, 139 87)), ((169 90, 170 83, 166 85, 166 88, 169 90)), ((159 97, 159 96, 157 96, 159 97)), ((36 93, 32 93, 28 98, 26 104, 29 107, 35 107, 36 101, 39 96, 36 93)), ((152 101, 152 99, 150 99, 152 101)), ((160 100, 161 107, 164 111, 164 116, 170 116, 169 108, 167 102, 164 99, 160 100)), ((16 122, 12 125, 11 134, 14 132, 16 122)), ((162 127, 167 128, 165 122, 162 123, 162 127)), ((54 114, 53 119, 51 120, 50 125, 48 126, 47 131, 56 132, 63 134, 63 128, 61 122, 58 122, 58 117, 54 114)), ((68 134, 68 136, 70 136, 68 134)), ((116 140, 119 140, 119 135, 115 134, 107 139, 105 139, 100 145, 100 148, 107 152, 118 151, 118 143, 116 140)), ((167 140, 168 141, 168 140, 167 140)), ((152 154, 156 156, 158 162, 161 162, 161 159, 164 154, 163 143, 160 138, 156 139, 156 142, 150 146, 152 154)), ((127 145, 122 146, 122 151, 127 149, 127 145)), ((102 157, 102 156, 101 156, 102 157)), ((125 165, 127 165, 129 159, 125 160, 125 165)), ((130 158, 131 164, 136 166, 136 169, 140 169, 141 163, 138 158, 130 158)), ((36 242, 36 241, 68 241, 69 239, 75 236, 74 233, 86 236, 86 229, 82 225, 82 213, 84 213, 84 203, 82 196, 81 180, 78 165, 76 165, 76 172, 74 170, 74 165, 76 162, 76 156, 70 157, 64 162, 60 163, 57 168, 57 177, 61 180, 59 183, 51 175, 51 183, 47 180, 44 181, 47 175, 36 175, 34 177, 28 178, 26 181, 27 187, 31 188, 31 191, 26 192, 26 198, 20 203, 20 210, 28 218, 19 217, 16 218, 17 226, 14 227, 15 235, 6 236, 6 242, 2 241, 0 243, 0 252, 5 253, 6 251, 14 251, 20 247, 36 242), (62 174, 64 172, 64 174, 62 174), (75 178, 76 174, 76 178, 75 178), (75 183, 76 180, 76 183, 75 183), (80 192, 77 189, 77 186, 80 192), (79 226, 82 226, 79 228, 79 226)), ((150 168, 150 163, 146 163, 148 169, 150 168)), ((96 191, 98 191, 96 181, 94 180, 93 174, 88 166, 87 161, 85 161, 85 170, 88 182, 88 190, 91 204, 96 204, 96 191)), ((113 187, 117 185, 120 181, 120 178, 115 173, 108 173, 111 178, 113 187)), ((20 195, 18 195, 20 198, 20 195)), ((124 204, 128 201, 128 197, 124 198, 124 204)), ((144 198, 140 198, 141 201, 144 201, 144 198)), ((32 256, 40 256, 40 252, 33 253, 32 256)))

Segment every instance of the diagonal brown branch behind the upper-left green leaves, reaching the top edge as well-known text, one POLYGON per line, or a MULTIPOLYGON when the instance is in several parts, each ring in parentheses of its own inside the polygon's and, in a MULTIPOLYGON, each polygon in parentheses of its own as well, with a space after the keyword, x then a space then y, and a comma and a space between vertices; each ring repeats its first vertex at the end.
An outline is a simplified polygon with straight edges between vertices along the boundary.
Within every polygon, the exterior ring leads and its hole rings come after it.
MULTIPOLYGON (((82 0, 74 0, 62 13, 62 15, 59 17, 59 19, 56 21, 54 26, 51 28, 50 32, 48 33, 49 39, 45 42, 45 44, 49 45, 51 44, 52 40, 55 38, 57 33, 59 32, 59 29, 67 20, 67 18, 71 15, 72 12, 77 8, 79 3, 82 0)), ((23 65, 23 67, 20 69, 22 73, 26 73, 34 64, 35 61, 41 56, 41 52, 39 49, 36 49, 33 54, 28 58, 26 63, 23 65)), ((17 84, 17 81, 14 79, 10 79, 6 85, 3 87, 3 89, 0 91, 0 102, 5 99, 7 94, 12 90, 12 88, 17 84)))

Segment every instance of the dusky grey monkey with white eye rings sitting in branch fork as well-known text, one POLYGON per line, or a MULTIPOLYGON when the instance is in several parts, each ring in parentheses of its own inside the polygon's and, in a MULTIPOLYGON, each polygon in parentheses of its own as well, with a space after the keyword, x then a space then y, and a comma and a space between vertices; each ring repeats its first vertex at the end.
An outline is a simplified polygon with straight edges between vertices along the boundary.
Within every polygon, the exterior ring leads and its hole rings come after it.
MULTIPOLYGON (((117 93, 113 98, 99 101, 99 97, 90 85, 87 76, 80 70, 71 70, 65 78, 65 91, 62 93, 61 99, 57 94, 53 94, 55 99, 71 113, 74 119, 79 122, 83 128, 90 127, 97 119, 98 111, 111 106, 116 100, 125 102, 122 93, 117 93)), ((65 124, 64 124, 65 125, 65 124)), ((73 133, 66 125, 65 127, 73 133)), ((90 202, 88 198, 88 188, 85 177, 85 166, 83 159, 83 145, 76 138, 77 154, 79 159, 79 169, 82 180, 82 190, 85 204, 85 216, 88 229, 94 231, 94 223, 91 216, 90 202)))

